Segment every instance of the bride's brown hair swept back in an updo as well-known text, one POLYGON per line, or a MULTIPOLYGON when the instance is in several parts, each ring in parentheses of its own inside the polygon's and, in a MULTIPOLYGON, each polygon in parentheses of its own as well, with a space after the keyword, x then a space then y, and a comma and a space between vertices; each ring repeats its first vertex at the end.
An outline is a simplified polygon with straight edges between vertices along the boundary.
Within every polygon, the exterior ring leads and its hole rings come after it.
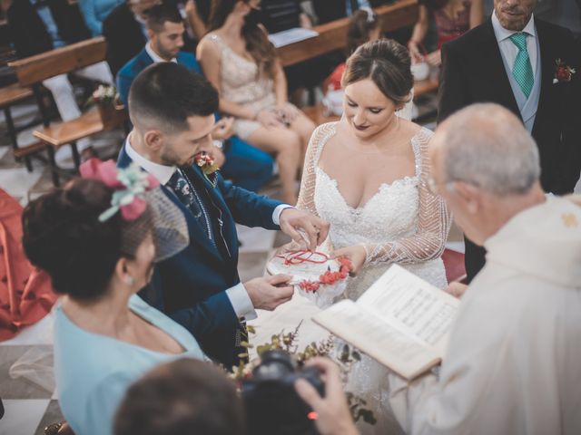
POLYGON ((361 45, 347 60, 343 88, 370 79, 397 106, 409 102, 414 78, 406 47, 392 39, 379 39, 361 45))

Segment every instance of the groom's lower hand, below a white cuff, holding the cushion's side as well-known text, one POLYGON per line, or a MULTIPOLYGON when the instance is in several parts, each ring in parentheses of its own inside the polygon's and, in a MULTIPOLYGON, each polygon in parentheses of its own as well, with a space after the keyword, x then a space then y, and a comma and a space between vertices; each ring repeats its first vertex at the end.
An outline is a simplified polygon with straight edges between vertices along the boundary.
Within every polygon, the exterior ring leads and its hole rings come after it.
POLYGON ((291 300, 294 292, 292 285, 289 285, 291 278, 290 275, 261 276, 246 281, 244 288, 254 308, 272 311, 291 300))

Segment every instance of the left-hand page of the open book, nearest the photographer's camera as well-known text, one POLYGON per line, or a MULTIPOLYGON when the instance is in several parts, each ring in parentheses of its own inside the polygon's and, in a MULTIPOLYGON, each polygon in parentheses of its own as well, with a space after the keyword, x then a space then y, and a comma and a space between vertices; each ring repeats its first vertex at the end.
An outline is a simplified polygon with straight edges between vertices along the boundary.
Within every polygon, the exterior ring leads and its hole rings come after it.
POLYGON ((438 362, 433 350, 353 301, 340 301, 312 320, 407 379, 438 362))

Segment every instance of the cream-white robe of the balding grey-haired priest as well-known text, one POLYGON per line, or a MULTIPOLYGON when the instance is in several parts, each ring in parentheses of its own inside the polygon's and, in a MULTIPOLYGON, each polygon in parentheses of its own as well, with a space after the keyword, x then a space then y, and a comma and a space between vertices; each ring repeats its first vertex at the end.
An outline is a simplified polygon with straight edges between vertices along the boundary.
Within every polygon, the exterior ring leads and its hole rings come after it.
POLYGON ((581 434, 581 208, 564 198, 489 237, 440 378, 389 375, 409 434, 581 434))

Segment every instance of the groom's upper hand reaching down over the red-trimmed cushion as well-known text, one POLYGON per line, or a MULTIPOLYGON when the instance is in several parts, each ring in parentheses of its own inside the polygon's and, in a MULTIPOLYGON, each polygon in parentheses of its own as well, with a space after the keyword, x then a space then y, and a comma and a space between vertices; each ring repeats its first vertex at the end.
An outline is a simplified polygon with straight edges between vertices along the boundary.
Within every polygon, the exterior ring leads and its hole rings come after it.
POLYGON ((323 243, 329 234, 329 222, 297 208, 282 210, 280 224, 283 233, 304 246, 305 239, 298 231, 302 230, 308 237, 307 243, 311 251, 323 243))

